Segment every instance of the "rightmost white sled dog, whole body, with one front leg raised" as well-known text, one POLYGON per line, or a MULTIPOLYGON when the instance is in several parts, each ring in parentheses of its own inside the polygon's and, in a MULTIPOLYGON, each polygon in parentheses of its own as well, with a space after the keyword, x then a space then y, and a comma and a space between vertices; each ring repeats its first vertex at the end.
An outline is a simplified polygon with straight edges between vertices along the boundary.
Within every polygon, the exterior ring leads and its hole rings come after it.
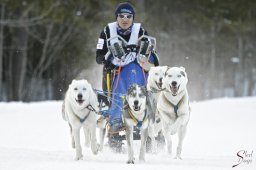
POLYGON ((178 159, 181 159, 182 144, 190 118, 187 82, 185 68, 168 68, 163 80, 163 86, 166 90, 160 93, 157 102, 169 154, 172 153, 171 135, 178 133, 178 147, 175 157, 178 159))

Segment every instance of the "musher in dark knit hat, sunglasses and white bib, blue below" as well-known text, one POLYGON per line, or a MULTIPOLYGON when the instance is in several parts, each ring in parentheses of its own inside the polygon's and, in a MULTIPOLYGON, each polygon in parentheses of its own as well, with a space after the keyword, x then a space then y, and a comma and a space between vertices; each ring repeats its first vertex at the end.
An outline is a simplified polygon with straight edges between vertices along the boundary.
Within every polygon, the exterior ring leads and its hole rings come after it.
POLYGON ((132 5, 120 3, 115 17, 116 21, 109 23, 101 32, 96 50, 96 62, 104 64, 103 91, 112 97, 110 103, 107 98, 104 101, 110 106, 111 132, 118 132, 122 127, 122 95, 134 83, 145 86, 150 67, 159 65, 152 39, 140 23, 134 23, 132 5))

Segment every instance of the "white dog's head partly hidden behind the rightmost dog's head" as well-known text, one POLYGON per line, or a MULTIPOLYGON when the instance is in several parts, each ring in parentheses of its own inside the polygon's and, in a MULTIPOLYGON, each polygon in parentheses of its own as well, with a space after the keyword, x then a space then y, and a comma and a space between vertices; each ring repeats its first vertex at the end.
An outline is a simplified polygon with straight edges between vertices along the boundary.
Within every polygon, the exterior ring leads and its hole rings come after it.
POLYGON ((166 70, 167 66, 158 66, 150 68, 147 83, 148 90, 150 90, 151 88, 159 91, 163 89, 163 78, 166 70))

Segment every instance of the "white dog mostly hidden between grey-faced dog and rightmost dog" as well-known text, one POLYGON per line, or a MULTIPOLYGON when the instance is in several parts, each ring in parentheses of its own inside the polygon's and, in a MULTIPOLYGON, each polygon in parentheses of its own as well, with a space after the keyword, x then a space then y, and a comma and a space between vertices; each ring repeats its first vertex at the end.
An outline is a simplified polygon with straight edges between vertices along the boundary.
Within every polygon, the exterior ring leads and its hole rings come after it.
POLYGON ((148 73, 147 91, 150 103, 148 105, 148 111, 150 111, 152 115, 152 122, 149 124, 149 136, 152 141, 152 153, 156 153, 157 145, 155 137, 157 137, 162 130, 160 115, 158 114, 156 107, 159 94, 164 90, 163 79, 167 68, 167 66, 151 67, 148 73))

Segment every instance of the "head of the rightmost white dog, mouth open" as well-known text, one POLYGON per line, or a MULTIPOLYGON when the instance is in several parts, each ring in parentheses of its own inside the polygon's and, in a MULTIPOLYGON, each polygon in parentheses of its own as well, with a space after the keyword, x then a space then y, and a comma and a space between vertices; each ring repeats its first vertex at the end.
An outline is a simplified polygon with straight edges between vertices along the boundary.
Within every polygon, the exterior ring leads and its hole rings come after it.
POLYGON ((171 92, 173 96, 184 91, 187 83, 188 78, 184 67, 171 67, 165 72, 163 84, 166 90, 171 92))

